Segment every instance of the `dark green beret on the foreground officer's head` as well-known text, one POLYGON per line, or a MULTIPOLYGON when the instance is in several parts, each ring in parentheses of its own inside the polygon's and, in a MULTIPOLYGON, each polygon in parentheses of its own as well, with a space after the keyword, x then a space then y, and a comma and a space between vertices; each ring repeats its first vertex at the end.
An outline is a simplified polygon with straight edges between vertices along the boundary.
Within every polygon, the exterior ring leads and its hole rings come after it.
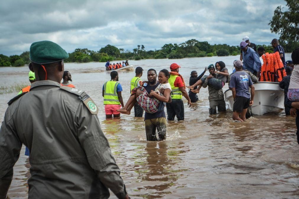
POLYGON ((52 41, 38 41, 30 46, 30 60, 37 64, 50 64, 68 58, 68 53, 52 41))

